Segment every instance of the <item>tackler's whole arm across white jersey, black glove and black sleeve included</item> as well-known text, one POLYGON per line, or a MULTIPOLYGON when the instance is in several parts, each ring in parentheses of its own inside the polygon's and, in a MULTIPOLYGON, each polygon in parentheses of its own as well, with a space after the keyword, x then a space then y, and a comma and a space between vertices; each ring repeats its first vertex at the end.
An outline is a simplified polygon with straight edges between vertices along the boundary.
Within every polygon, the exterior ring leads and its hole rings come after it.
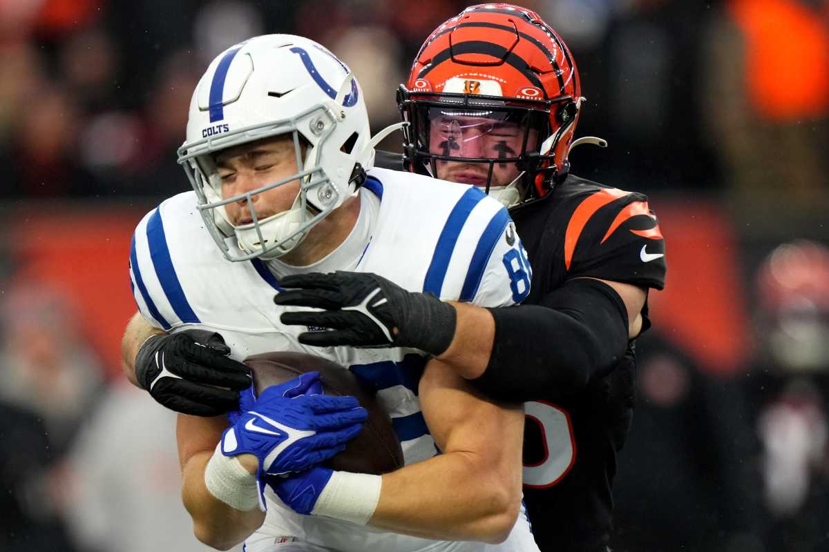
MULTIPOLYGON (((495 276, 482 303, 509 303, 502 295, 512 285, 504 285, 500 264, 492 263, 495 276)), ((444 303, 370 273, 310 273, 288 276, 282 284, 297 289, 276 295, 277 305, 323 309, 284 313, 284 324, 332 328, 300 334, 300 343, 419 348, 473 380, 488 396, 516 402, 550 391, 570 395, 594 374, 612 369, 628 339, 642 330, 647 298, 638 286, 589 277, 567 281, 538 305, 492 310, 444 303)), ((520 299, 513 290, 512 300, 520 299)))

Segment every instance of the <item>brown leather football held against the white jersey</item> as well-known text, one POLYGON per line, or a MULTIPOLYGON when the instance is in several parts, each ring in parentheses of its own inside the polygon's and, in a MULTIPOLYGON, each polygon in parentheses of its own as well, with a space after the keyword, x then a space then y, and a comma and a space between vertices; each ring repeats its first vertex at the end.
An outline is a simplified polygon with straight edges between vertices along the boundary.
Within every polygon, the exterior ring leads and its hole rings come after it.
POLYGON ((368 420, 346 449, 326 463, 327 468, 354 473, 389 473, 403 466, 403 451, 389 415, 377 401, 375 392, 346 367, 327 358, 306 353, 262 353, 245 359, 253 372, 257 396, 268 386, 287 382, 304 372, 320 373, 327 395, 354 396, 368 410, 368 420))

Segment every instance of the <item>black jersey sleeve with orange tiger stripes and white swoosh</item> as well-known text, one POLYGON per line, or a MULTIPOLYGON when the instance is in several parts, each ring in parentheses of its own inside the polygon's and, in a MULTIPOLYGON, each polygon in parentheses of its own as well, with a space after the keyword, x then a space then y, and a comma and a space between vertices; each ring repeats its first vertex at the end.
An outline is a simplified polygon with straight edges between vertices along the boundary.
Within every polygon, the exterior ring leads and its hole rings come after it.
POLYGON ((574 203, 565 229, 566 278, 592 277, 662 290, 665 240, 645 195, 608 188, 574 203))

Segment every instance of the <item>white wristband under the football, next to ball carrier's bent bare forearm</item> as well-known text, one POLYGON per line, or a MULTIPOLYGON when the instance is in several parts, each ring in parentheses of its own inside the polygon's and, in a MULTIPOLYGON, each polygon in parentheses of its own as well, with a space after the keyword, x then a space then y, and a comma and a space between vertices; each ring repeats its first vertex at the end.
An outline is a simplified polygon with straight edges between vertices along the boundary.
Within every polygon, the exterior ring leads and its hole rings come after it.
POLYGON ((311 513, 364 526, 380 502, 382 482, 379 475, 334 472, 311 513))

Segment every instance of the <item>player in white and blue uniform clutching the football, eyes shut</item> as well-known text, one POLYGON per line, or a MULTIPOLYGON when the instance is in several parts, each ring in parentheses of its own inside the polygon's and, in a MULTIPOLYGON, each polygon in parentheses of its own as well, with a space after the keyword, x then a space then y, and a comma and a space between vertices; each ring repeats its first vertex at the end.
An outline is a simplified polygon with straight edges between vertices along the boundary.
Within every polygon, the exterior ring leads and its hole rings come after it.
MULTIPOLYGON (((454 324, 462 307, 449 301, 505 306, 529 293, 521 240, 473 186, 372 169, 374 142, 356 79, 313 41, 259 36, 217 56, 179 150, 194 191, 162 202, 133 237, 128 377, 203 415, 180 415, 177 436, 185 506, 209 545, 537 550, 519 515, 521 408, 482 400, 423 353, 458 346, 429 331, 454 324), (407 328, 407 348, 317 348, 313 333, 298 338, 309 328, 280 321, 307 310, 274 305, 292 275, 333 271, 366 273, 365 286, 332 293, 359 299, 354 309, 388 341, 407 328), (400 288, 418 293, 401 304, 400 288), (230 428, 207 416, 249 383, 237 361, 279 350, 329 358, 376 388, 405 467, 377 476, 317 465, 365 412, 315 395, 313 374, 269 388, 230 428)), ((337 331, 354 329, 345 320, 337 331)))

